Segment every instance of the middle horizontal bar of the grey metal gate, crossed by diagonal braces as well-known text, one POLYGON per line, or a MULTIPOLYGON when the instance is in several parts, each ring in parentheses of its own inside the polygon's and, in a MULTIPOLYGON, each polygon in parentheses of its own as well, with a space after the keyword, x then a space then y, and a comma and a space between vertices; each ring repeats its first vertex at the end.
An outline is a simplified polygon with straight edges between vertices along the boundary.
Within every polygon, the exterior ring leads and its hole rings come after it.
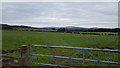
MULTIPOLYGON (((32 54, 32 56, 47 56, 47 57, 65 58, 65 59, 68 59, 68 58, 69 58, 69 57, 64 57, 64 56, 39 55, 39 54, 32 54)), ((98 62, 98 60, 92 60, 92 59, 82 59, 82 58, 71 58, 71 59, 98 62)), ((111 61, 100 61, 100 62, 103 62, 103 63, 111 63, 111 64, 120 64, 119 62, 111 62, 111 61)))

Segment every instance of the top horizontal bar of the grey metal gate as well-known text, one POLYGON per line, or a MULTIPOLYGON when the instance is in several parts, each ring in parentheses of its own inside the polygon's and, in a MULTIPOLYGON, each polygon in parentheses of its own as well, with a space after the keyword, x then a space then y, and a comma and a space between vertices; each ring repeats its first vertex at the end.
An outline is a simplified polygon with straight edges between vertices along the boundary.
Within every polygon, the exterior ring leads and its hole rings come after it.
POLYGON ((111 50, 111 49, 95 49, 95 48, 66 47, 66 46, 47 46, 47 45, 31 45, 31 47, 52 47, 52 48, 68 48, 68 49, 85 49, 85 50, 96 50, 96 51, 107 51, 107 52, 119 52, 120 53, 120 50, 111 50))

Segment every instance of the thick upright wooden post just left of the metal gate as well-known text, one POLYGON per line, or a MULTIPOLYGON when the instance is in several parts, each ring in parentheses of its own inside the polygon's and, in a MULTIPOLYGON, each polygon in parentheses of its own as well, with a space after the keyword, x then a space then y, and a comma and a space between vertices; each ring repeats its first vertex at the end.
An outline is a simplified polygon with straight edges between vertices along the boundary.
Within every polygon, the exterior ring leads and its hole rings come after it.
POLYGON ((28 66, 28 49, 27 45, 21 46, 21 65, 28 66))

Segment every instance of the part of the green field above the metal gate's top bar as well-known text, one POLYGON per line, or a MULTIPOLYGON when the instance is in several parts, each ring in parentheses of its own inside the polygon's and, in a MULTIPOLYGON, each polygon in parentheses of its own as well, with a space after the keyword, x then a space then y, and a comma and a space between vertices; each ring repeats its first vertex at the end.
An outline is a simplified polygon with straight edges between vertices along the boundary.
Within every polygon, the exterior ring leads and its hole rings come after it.
POLYGON ((3 48, 27 45, 60 45, 91 48, 118 48, 118 36, 81 35, 57 32, 3 31, 3 48))

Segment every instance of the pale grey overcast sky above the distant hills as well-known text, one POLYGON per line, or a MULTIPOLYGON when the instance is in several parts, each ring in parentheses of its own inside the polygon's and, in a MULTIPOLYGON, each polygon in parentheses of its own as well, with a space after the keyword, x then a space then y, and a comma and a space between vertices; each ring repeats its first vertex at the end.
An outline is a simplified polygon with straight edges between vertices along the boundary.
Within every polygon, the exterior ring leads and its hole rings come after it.
POLYGON ((34 27, 118 27, 117 2, 4 2, 2 23, 34 27))

